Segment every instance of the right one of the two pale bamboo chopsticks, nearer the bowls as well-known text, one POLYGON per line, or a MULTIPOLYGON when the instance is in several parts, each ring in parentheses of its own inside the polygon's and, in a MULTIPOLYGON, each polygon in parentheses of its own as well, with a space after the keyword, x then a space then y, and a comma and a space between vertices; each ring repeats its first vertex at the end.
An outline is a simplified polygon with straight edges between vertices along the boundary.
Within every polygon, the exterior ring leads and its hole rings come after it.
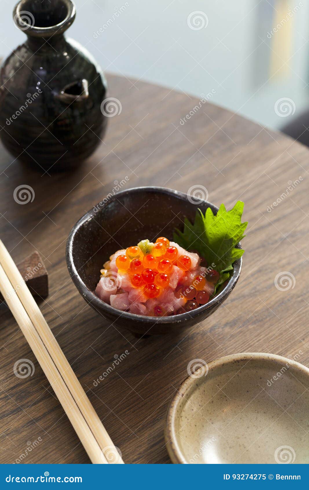
MULTIPOLYGON (((114 446, 111 438, 109 437, 102 422, 97 416, 95 409, 90 403, 86 393, 81 387, 76 375, 74 374, 67 358, 62 352, 59 344, 53 336, 45 318, 43 317, 41 310, 33 299, 30 291, 27 288, 24 279, 17 269, 12 257, 8 253, 7 249, 0 240, 0 264, 3 267, 4 272, 7 274, 9 281, 11 282, 24 310, 28 314, 38 336, 42 339, 54 365, 63 378, 66 386, 68 387, 73 400, 78 406, 82 416, 89 425, 95 439, 105 455, 107 462, 110 461, 111 455, 113 457, 113 463, 123 464, 123 461, 118 453, 117 448, 114 446)), ((5 297, 5 295, 3 294, 5 297)))

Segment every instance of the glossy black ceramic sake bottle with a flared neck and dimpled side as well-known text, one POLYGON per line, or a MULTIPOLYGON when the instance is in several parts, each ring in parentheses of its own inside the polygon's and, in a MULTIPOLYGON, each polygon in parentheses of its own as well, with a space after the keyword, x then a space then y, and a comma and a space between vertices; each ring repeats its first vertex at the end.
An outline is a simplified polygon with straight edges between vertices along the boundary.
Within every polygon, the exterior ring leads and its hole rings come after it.
POLYGON ((38 170, 68 170, 93 153, 107 117, 106 81, 93 57, 64 37, 71 0, 21 0, 15 24, 27 35, 0 70, 0 138, 38 170))

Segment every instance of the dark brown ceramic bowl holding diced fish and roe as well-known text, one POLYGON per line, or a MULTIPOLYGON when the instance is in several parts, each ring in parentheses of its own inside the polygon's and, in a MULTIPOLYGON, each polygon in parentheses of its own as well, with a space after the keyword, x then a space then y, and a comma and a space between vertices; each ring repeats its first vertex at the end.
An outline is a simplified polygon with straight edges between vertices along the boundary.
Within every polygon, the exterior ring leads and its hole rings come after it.
MULTIPOLYGON (((105 319, 119 327, 140 334, 161 334, 191 327, 209 317, 235 287, 241 270, 241 259, 227 285, 209 303, 190 313, 170 317, 143 317, 120 312, 95 295, 100 269, 110 255, 120 248, 150 241, 159 236, 172 240, 175 228, 183 229, 184 218, 193 221, 197 208, 203 212, 210 202, 199 201, 181 192, 163 187, 136 187, 105 198, 73 226, 67 243, 67 265, 76 288, 83 298, 105 319), (198 204, 198 206, 197 206, 198 204)), ((240 244, 238 244, 240 247, 240 244)))

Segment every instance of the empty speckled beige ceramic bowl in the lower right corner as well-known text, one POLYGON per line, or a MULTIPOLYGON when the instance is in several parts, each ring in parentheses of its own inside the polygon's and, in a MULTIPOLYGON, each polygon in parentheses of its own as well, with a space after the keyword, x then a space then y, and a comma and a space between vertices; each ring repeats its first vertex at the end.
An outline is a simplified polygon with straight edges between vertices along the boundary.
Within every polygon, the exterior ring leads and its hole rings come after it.
POLYGON ((192 363, 167 412, 173 463, 309 463, 309 368, 260 353, 192 363))

